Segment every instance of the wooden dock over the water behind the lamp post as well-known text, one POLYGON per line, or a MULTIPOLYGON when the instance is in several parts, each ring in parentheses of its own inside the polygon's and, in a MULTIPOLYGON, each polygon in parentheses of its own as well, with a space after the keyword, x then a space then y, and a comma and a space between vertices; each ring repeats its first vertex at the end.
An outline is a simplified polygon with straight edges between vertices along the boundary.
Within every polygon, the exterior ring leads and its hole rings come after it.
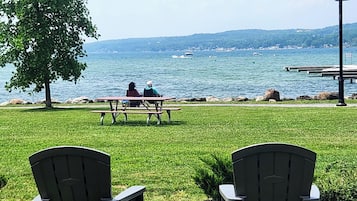
MULTIPOLYGON (((338 79, 340 76, 340 68, 338 65, 327 66, 286 66, 286 71, 307 72, 308 74, 316 74, 321 77, 332 77, 338 79)), ((344 65, 343 66, 343 78, 350 79, 353 83, 357 80, 357 65, 344 65)))

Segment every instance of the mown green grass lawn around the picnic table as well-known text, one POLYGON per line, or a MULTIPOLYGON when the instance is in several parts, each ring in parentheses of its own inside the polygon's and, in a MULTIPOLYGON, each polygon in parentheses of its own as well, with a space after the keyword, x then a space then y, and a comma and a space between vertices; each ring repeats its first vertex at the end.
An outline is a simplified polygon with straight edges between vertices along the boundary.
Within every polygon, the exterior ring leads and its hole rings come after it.
MULTIPOLYGON (((111 155, 113 194, 145 185, 145 200, 203 201, 192 176, 200 157, 229 157, 243 146, 285 142, 317 152, 315 175, 336 161, 357 161, 357 107, 282 108, 182 106, 170 124, 146 126, 131 115, 104 126, 93 108, 0 109, 0 200, 31 200, 38 192, 28 157, 57 145, 86 146, 111 155)), ((167 119, 166 114, 163 116, 167 119)))

